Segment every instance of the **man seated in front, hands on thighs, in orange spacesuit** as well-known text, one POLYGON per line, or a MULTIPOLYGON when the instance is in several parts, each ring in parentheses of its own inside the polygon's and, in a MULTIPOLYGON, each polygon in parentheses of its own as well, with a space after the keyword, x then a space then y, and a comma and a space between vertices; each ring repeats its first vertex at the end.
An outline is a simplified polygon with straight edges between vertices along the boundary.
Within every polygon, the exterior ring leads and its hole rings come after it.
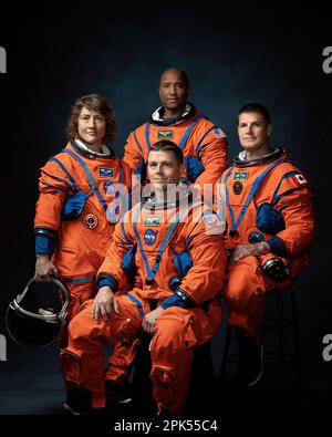
MULTIPOLYGON (((90 394, 94 410, 105 406, 103 343, 135 339, 144 330, 152 334, 151 378, 158 414, 179 415, 193 352, 219 326, 217 298, 226 269, 224 227, 204 206, 200 191, 197 198, 194 190, 178 185, 181 171, 177 145, 160 141, 151 148, 153 193, 116 225, 98 270, 98 293, 69 325, 69 345, 61 356, 64 377, 82 395, 90 394), (118 294, 127 271, 124 260, 133 248, 135 287, 118 294)), ((75 412, 80 403, 72 400, 68 407, 75 412)))

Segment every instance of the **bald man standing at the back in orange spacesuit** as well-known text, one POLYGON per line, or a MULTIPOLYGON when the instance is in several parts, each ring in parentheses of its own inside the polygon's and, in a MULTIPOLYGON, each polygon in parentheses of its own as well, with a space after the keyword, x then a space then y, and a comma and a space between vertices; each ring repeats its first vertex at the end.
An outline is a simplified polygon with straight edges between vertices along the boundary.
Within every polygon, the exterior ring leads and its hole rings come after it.
MULTIPOLYGON (((129 134, 124 162, 144 185, 151 145, 159 139, 170 139, 184 154, 185 167, 181 177, 188 184, 199 184, 205 200, 208 201, 209 197, 212 198, 215 183, 227 166, 227 141, 225 133, 217 125, 187 102, 188 94, 189 80, 186 72, 174 67, 163 72, 159 81, 159 97, 163 105, 151 115, 148 122, 129 134)), ((131 353, 134 358, 136 347, 137 342, 115 343, 105 375, 108 381, 123 382, 123 387, 126 386, 126 357, 131 353)), ((115 392, 118 392, 115 393, 115 397, 129 396, 121 386, 115 388, 115 392)))

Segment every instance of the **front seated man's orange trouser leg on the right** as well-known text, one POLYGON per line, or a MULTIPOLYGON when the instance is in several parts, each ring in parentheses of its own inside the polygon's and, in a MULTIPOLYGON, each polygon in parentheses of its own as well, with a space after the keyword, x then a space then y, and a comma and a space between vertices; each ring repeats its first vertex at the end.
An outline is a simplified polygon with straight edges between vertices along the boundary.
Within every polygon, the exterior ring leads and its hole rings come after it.
POLYGON ((153 397, 158 412, 181 413, 189 388, 194 347, 216 333, 221 309, 215 305, 207 315, 200 309, 169 308, 158 319, 151 344, 153 397))

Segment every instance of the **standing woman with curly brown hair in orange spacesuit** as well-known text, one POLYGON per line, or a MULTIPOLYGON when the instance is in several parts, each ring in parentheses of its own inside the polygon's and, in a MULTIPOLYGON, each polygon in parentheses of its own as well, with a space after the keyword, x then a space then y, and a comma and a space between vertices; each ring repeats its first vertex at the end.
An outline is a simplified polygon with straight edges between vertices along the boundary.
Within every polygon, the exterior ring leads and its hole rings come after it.
POLYGON ((131 186, 131 169, 106 145, 114 139, 115 127, 105 97, 77 98, 68 122, 68 145, 41 168, 35 279, 50 281, 53 274, 68 284, 70 316, 96 294, 96 272, 124 212, 121 208, 125 209, 117 191, 131 186))

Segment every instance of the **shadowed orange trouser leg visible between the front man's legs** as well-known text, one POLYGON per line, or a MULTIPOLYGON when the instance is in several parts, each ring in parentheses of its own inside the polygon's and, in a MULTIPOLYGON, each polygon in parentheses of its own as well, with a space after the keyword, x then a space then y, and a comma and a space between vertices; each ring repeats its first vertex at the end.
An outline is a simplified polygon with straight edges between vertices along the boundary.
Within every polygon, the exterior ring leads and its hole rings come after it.
POLYGON ((105 379, 111 379, 116 384, 128 376, 138 344, 139 339, 126 339, 114 343, 114 350, 108 358, 105 372, 105 379))

